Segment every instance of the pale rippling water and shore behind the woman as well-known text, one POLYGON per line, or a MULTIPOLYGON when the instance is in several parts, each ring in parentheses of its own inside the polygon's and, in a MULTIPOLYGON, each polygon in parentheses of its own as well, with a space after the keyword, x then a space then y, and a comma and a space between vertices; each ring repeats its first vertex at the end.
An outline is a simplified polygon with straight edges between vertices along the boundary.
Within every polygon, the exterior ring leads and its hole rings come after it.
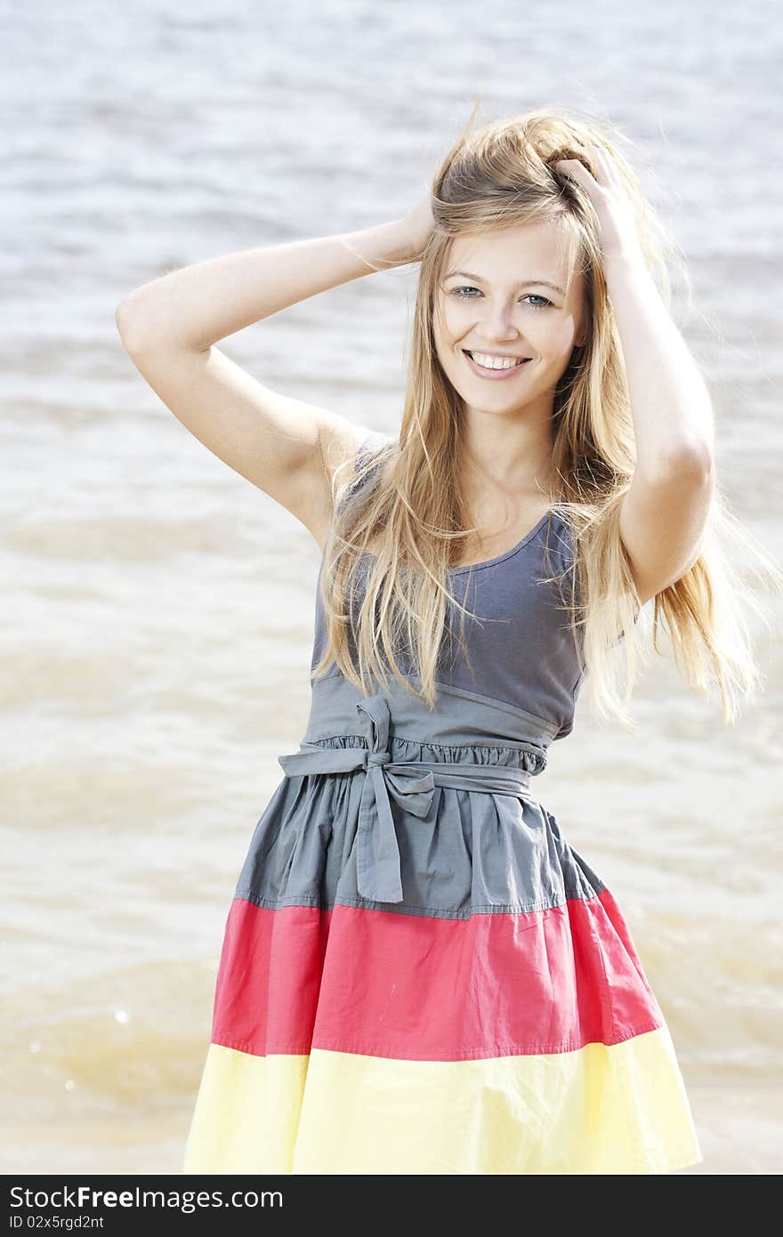
MULTIPOLYGON (((118 302, 176 266, 404 213, 479 92, 480 121, 606 119, 688 259, 693 307, 674 309, 719 476, 773 550, 782 32, 772 0, 2 4, 1 1171, 179 1171, 225 915, 309 708, 318 547, 146 386, 118 302)), ((393 433, 416 275, 220 346, 393 433)), ((759 596, 766 691, 734 727, 652 654, 636 732, 580 701, 538 783, 669 1022, 691 1173, 781 1166, 783 654, 781 597, 759 596)))

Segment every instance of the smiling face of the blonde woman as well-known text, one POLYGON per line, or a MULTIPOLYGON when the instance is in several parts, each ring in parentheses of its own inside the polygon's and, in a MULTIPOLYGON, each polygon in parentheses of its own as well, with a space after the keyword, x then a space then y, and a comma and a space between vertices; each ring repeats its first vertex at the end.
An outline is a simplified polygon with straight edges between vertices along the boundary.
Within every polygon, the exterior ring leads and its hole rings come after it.
POLYGON ((455 236, 443 271, 435 350, 465 404, 512 412, 544 400, 550 409, 574 345, 583 343, 584 315, 584 280, 575 272, 567 289, 567 257, 555 229, 542 223, 455 236), (501 357, 496 366, 524 361, 512 369, 481 366, 492 357, 501 357))

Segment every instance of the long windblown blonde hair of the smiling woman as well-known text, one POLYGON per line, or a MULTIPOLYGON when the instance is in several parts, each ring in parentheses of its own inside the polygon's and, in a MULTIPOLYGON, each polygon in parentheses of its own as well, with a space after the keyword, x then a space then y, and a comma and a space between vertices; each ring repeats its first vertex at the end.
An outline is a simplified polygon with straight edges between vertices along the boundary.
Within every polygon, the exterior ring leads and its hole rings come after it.
MULTIPOLYGON (((574 640, 581 637, 594 709, 632 726, 625 705, 649 640, 646 625, 637 622, 643 611, 620 538, 618 513, 633 475, 636 438, 591 210, 580 187, 554 168, 555 161, 579 158, 590 168, 586 143, 609 152, 633 205, 644 260, 669 309, 667 252, 690 291, 687 268, 618 150, 622 135, 616 129, 569 110, 536 109, 474 130, 475 110, 432 182, 435 228, 421 256, 398 443, 387 443, 364 463, 345 461, 333 473, 335 515, 320 581, 327 646, 313 673, 319 677, 336 663, 370 693, 371 678, 387 685, 391 670, 434 709, 448 605, 461 611, 463 632, 468 612, 450 593, 447 573, 466 537, 476 532, 465 523, 460 485, 461 401, 435 354, 439 278, 451 238, 546 220, 559 229, 569 278, 576 270, 584 278, 588 322, 584 346, 574 349, 553 406, 559 492, 550 510, 568 526, 574 550, 575 588, 563 594, 563 605, 574 640), (366 485, 374 470, 376 482, 366 485), (402 648, 413 658, 408 674, 397 659, 402 648)), ((725 722, 737 715, 737 696, 751 694, 759 683, 742 610, 762 612, 724 552, 730 539, 740 544, 746 563, 748 555, 756 559, 761 574, 776 583, 783 579, 731 515, 716 484, 699 558, 656 595, 652 631, 652 646, 661 653, 658 631, 665 620, 675 662, 699 695, 717 688, 725 722)), ((557 575, 548 579, 560 583, 557 575)), ((460 646, 469 657, 461 632, 460 646)))

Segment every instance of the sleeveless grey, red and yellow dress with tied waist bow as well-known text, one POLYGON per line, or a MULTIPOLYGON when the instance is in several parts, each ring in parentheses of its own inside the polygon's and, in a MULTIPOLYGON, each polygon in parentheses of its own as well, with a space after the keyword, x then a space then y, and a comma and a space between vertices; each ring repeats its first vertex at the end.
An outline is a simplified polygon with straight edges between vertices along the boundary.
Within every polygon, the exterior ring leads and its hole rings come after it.
MULTIPOLYGON (((586 673, 538 579, 568 571, 569 548, 548 512, 449 573, 480 621, 471 668, 447 628, 434 713, 396 682, 310 677, 228 912, 184 1173, 703 1160, 622 912, 534 797, 586 673)), ((324 641, 317 595, 310 669, 324 641)))

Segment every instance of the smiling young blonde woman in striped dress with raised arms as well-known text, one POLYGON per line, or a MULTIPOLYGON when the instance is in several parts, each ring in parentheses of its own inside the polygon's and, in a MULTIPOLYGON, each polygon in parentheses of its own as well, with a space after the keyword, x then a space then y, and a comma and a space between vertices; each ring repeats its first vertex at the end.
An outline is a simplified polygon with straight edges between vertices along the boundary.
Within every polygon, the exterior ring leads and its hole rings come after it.
POLYGON ((606 129, 542 109, 465 131, 403 219, 199 262, 118 309, 172 412, 323 549, 312 713, 228 914, 186 1173, 701 1159, 618 904, 533 783, 583 682, 627 720, 651 599, 726 720, 756 682, 657 228, 606 129), (412 261, 396 438, 214 348, 412 261))

